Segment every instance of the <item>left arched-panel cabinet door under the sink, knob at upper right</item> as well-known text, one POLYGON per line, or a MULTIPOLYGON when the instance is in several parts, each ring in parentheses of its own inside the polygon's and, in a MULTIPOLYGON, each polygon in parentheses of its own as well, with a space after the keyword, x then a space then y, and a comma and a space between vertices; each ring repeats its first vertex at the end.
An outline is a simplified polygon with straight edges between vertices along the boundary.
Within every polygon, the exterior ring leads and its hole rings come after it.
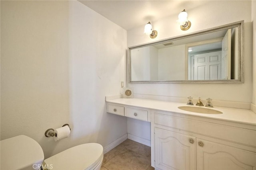
POLYGON ((154 128, 155 167, 161 170, 195 170, 196 138, 154 128))

